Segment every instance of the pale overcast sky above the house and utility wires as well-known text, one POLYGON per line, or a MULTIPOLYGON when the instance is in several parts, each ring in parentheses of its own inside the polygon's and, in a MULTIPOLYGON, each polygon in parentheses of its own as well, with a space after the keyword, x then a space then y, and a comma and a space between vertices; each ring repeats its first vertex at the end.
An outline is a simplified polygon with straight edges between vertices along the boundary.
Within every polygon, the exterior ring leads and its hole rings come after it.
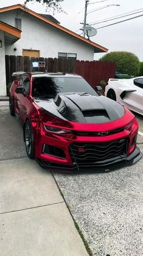
MULTIPOLYGON (((88 4, 88 12, 92 9, 97 9, 100 7, 105 7, 101 10, 96 10, 95 12, 88 13, 87 23, 96 23, 106 18, 110 18, 122 13, 127 13, 131 11, 139 12, 143 11, 143 0, 106 0, 99 3, 100 0, 90 0, 88 4), (96 2, 95 4, 91 4, 96 2), (97 3, 98 2, 98 3, 97 3), (120 6, 109 6, 112 4, 120 4, 120 6)), ((24 0, 7 0, 1 1, 0 7, 11 6, 13 4, 23 4, 24 0)), ((61 4, 63 9, 68 13, 55 13, 54 17, 60 21, 62 26, 65 26, 72 31, 76 31, 81 34, 82 31, 78 30, 82 28, 80 22, 84 18, 84 7, 85 0, 64 0, 61 4), (83 9, 83 10, 82 10, 83 9)), ((35 3, 27 4, 27 7, 38 13, 45 13, 46 7, 41 4, 35 3)), ((51 12, 48 14, 53 15, 51 12)), ((96 24, 93 27, 99 28, 100 26, 105 26, 120 20, 125 20, 127 18, 135 17, 138 15, 143 15, 143 12, 136 13, 134 15, 124 17, 122 19, 117 19, 109 21, 106 23, 96 24)), ((133 20, 125 21, 123 23, 115 24, 113 26, 108 26, 106 28, 97 29, 97 34, 91 37, 93 42, 99 43, 103 47, 106 47, 110 51, 130 51, 138 56, 140 61, 143 61, 143 16, 135 18, 133 20)), ((103 54, 95 54, 94 58, 98 60, 103 54)))

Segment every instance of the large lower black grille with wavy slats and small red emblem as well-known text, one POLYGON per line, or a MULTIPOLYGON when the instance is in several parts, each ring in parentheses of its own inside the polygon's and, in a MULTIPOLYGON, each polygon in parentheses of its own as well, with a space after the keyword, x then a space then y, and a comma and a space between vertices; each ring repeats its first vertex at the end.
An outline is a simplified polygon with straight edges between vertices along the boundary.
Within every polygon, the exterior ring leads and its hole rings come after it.
POLYGON ((69 149, 73 162, 78 166, 93 166, 114 157, 125 156, 127 138, 97 143, 72 143, 69 149))

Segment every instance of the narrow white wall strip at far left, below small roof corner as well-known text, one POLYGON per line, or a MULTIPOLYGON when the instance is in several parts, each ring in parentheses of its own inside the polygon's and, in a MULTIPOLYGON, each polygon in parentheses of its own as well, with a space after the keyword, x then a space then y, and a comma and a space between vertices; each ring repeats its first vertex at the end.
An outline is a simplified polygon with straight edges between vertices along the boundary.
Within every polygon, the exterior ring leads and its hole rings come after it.
POLYGON ((0 31, 0 40, 2 47, 0 47, 0 96, 6 96, 6 77, 5 77, 5 49, 4 49, 4 32, 0 31))

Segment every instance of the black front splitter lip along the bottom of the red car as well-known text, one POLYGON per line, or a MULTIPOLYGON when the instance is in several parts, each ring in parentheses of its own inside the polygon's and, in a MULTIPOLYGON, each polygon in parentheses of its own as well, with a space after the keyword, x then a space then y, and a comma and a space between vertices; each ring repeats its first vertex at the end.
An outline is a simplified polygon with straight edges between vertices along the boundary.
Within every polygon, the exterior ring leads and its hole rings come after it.
POLYGON ((86 166, 86 167, 78 167, 77 164, 74 164, 72 166, 68 165, 58 165, 46 162, 41 159, 36 159, 38 164, 40 164, 43 168, 48 168, 49 171, 60 171, 64 173, 81 173, 81 172, 99 172, 99 171, 113 171, 117 170, 119 168, 133 165, 136 162, 138 162, 139 159, 142 157, 142 152, 138 147, 134 149, 134 151, 130 154, 130 156, 119 156, 114 157, 113 159, 108 159, 100 162, 96 162, 96 165, 94 166, 86 166))

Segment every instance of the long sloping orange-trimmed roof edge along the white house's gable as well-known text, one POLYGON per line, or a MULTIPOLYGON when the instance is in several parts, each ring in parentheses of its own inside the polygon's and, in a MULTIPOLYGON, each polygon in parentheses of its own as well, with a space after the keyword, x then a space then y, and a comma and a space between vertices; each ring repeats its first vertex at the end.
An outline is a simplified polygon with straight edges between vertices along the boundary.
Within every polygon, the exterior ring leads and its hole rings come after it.
POLYGON ((37 12, 33 12, 33 10, 30 10, 30 9, 26 8, 26 7, 22 6, 21 4, 15 4, 14 6, 3 7, 3 8, 0 9, 0 13, 1 12, 8 12, 10 10, 17 10, 17 9, 23 10, 24 12, 29 13, 33 17, 36 17, 36 18, 50 24, 51 26, 54 26, 55 28, 60 29, 63 32, 66 32, 70 36, 73 36, 73 37, 81 40, 82 42, 88 43, 88 45, 91 45, 91 47, 94 47, 94 53, 105 53, 105 52, 108 51, 108 49, 106 49, 102 45, 94 43, 91 40, 88 40, 85 37, 82 37, 82 36, 76 34, 75 32, 61 26, 60 24, 54 23, 53 21, 43 17, 42 15, 38 14, 37 12))

